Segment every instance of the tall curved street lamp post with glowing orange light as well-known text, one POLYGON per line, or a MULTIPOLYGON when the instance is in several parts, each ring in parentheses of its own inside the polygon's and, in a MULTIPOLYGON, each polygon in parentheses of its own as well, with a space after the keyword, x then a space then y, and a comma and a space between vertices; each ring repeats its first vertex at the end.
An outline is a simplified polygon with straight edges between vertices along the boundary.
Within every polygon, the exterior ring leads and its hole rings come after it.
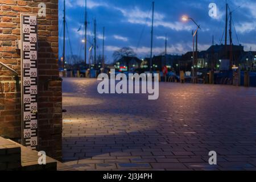
POLYGON ((196 36, 196 53, 197 53, 197 35, 198 35, 197 32, 198 32, 198 30, 201 29, 201 28, 200 28, 200 25, 197 24, 193 18, 189 18, 188 16, 182 16, 182 20, 183 20, 184 22, 188 21, 189 19, 191 19, 192 22, 194 22, 194 23, 196 24, 196 26, 197 26, 196 31, 193 32, 193 34, 192 34, 192 35, 193 35, 192 82, 193 82, 193 83, 196 83, 195 69, 196 69, 196 66, 197 66, 197 65, 195 65, 195 61, 196 61, 196 64, 197 64, 197 56, 196 56, 196 59, 195 59, 195 36, 196 36))

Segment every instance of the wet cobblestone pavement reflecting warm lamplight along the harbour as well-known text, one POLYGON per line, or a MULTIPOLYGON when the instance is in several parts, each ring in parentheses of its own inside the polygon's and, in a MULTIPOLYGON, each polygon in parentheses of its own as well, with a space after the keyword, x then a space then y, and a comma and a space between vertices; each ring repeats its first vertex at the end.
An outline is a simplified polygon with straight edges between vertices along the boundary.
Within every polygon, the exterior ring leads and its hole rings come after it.
POLYGON ((97 93, 64 78, 63 160, 79 170, 256 170, 256 89, 160 83, 145 94, 97 93), (217 152, 217 165, 208 163, 217 152))

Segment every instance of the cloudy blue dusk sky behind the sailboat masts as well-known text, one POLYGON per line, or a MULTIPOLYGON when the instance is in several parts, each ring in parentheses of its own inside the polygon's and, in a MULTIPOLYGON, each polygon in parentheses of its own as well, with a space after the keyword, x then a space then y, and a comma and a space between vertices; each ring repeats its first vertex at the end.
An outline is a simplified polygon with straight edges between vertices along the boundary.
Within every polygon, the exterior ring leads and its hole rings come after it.
MULTIPOLYGON (((59 0, 59 45, 63 46, 63 5, 59 0)), ((246 51, 256 51, 256 1, 228 0, 233 13, 233 43, 242 44, 246 51), (236 35, 237 32, 237 35, 236 35)), ((102 30, 105 27, 105 55, 112 62, 113 51, 131 47, 139 58, 150 55, 152 1, 150 0, 88 0, 88 49, 93 43, 93 19, 97 20, 97 55, 102 54, 102 30)), ((66 52, 84 59, 84 10, 85 0, 66 0, 67 36, 66 52), (80 31, 78 31, 80 30, 80 31), (68 40, 69 35, 69 40, 68 40)), ((153 54, 164 52, 167 34, 167 52, 181 55, 192 50, 192 21, 183 22, 188 15, 200 24, 199 51, 212 44, 220 44, 225 28, 224 0, 155 0, 153 54), (209 3, 216 3, 217 17, 210 17, 209 3)), ((223 42, 224 43, 224 40, 223 42)))

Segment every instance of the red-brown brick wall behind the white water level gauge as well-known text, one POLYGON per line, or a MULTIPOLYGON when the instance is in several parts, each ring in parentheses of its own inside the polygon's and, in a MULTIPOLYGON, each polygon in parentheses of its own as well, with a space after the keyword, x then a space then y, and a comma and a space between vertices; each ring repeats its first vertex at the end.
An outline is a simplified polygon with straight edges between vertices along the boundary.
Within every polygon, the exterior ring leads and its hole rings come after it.
MULTIPOLYGON (((46 3, 46 17, 38 17, 39 150, 61 159, 62 103, 58 59, 58 1, 0 0, 0 61, 20 75, 20 13, 37 14, 46 3)), ((20 139, 20 77, 0 66, 0 135, 20 139)))

